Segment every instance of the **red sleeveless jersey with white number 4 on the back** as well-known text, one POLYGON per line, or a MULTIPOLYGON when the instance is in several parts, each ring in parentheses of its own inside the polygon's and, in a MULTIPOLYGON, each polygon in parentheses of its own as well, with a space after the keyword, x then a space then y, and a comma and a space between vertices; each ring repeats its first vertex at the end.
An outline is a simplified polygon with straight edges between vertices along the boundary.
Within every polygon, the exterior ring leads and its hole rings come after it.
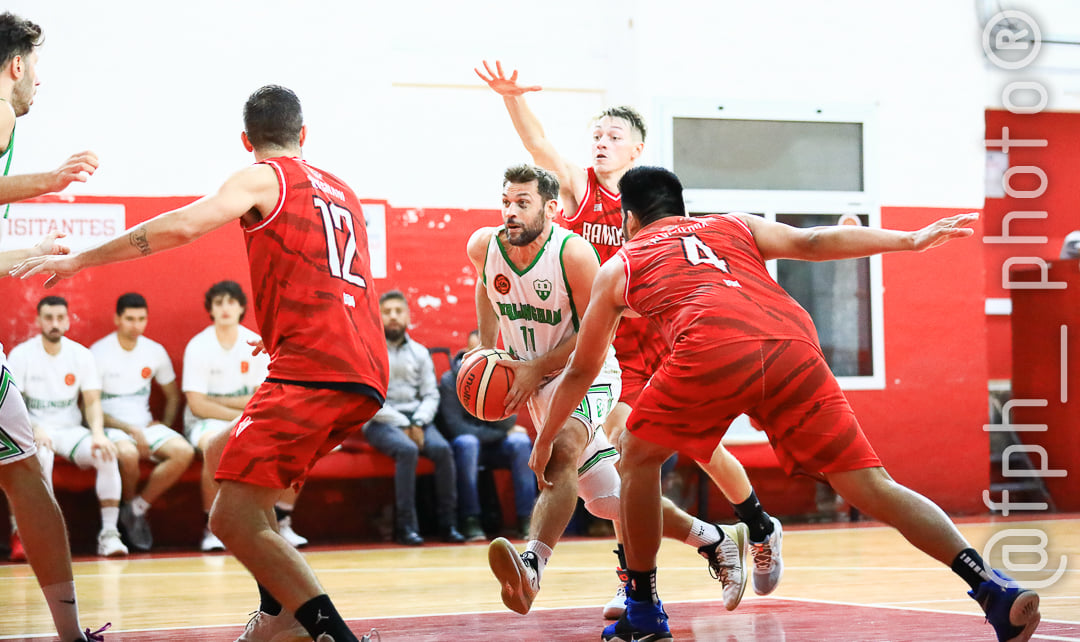
POLYGON ((769 276, 745 223, 730 215, 665 218, 622 249, 626 305, 667 346, 745 339, 818 345, 810 315, 769 276))

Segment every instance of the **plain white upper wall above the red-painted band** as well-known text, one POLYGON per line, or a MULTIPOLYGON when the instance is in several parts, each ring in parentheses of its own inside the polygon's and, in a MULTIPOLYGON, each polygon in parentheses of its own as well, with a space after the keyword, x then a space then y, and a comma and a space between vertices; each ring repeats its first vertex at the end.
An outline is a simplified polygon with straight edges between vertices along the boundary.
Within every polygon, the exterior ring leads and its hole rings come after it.
POLYGON ((608 104, 634 104, 648 119, 664 96, 870 103, 881 204, 983 202, 988 70, 969 2, 14 0, 8 9, 46 34, 44 83, 21 119, 13 170, 92 148, 102 170, 72 192, 213 190, 249 162, 239 143, 247 94, 278 82, 303 101, 307 158, 362 196, 492 208, 502 169, 527 160, 501 101, 472 71, 500 57, 545 88, 530 104, 579 162, 589 117, 608 104))

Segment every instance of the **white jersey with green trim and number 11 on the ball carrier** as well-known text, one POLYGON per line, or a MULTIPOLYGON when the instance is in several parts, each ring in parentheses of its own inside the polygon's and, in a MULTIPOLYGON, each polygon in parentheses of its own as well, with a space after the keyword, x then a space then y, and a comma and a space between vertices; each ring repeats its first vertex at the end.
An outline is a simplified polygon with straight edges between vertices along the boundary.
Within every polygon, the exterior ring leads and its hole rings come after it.
MULTIPOLYGON (((584 313, 573 307, 563 265, 566 243, 578 235, 552 226, 551 236, 532 263, 518 269, 507 257, 499 238, 503 230, 496 229, 488 243, 484 285, 499 319, 503 344, 515 357, 531 360, 573 336, 580 315, 584 313)), ((612 365, 618 370, 615 350, 608 348, 605 370, 612 365)))

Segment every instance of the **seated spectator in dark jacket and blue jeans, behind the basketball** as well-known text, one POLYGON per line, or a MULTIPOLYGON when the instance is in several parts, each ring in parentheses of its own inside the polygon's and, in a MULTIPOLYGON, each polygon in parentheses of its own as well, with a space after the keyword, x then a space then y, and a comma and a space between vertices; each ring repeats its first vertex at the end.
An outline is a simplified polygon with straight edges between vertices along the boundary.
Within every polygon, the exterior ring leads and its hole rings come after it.
POLYGON ((486 539, 481 527, 480 492, 477 473, 480 465, 486 468, 510 468, 514 486, 514 511, 517 514, 517 533, 526 537, 529 516, 537 498, 536 476, 529 469, 532 442, 528 432, 515 426, 517 415, 500 422, 484 422, 468 414, 457 393, 458 370, 467 352, 480 345, 480 333, 469 333, 465 349, 450 360, 450 369, 438 382, 440 430, 454 446, 454 463, 458 473, 458 501, 462 535, 468 541, 486 539))

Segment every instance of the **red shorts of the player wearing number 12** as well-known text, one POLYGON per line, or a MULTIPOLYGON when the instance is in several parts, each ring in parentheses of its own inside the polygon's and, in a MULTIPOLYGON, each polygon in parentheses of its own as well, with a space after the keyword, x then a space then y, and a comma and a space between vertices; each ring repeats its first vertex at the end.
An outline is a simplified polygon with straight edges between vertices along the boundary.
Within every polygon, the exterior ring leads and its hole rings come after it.
POLYGON ((214 479, 299 490, 315 462, 380 406, 367 394, 265 382, 229 434, 214 479))

